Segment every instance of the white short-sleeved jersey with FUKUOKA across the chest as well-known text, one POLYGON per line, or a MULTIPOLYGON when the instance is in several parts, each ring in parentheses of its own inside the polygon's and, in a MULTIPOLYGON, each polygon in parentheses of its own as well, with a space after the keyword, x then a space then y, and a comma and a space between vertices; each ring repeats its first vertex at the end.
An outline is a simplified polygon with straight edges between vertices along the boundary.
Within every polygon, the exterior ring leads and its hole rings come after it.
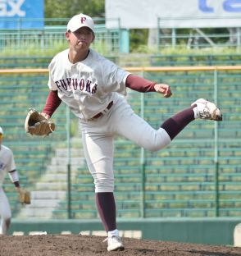
POLYGON ((126 94, 129 72, 90 49, 84 61, 72 64, 69 49, 52 58, 48 87, 57 90, 59 98, 75 116, 89 120, 102 112, 118 94, 126 94))

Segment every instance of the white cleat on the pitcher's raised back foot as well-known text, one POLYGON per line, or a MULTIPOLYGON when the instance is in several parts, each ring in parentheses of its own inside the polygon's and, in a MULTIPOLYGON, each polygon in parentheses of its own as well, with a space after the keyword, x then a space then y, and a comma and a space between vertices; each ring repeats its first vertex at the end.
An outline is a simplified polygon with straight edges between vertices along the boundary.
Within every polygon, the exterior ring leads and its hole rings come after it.
POLYGON ((191 106, 195 104, 197 105, 197 116, 199 118, 222 121, 221 111, 215 103, 211 103, 204 98, 198 98, 191 106))

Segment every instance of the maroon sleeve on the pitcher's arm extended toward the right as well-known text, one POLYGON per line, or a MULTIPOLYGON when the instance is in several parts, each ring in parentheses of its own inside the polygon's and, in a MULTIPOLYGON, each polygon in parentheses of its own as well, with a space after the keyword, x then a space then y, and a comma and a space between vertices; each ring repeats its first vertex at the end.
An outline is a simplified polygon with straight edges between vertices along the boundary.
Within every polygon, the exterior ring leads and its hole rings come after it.
POLYGON ((137 75, 128 75, 125 81, 126 87, 140 93, 155 92, 154 85, 156 84, 137 75))

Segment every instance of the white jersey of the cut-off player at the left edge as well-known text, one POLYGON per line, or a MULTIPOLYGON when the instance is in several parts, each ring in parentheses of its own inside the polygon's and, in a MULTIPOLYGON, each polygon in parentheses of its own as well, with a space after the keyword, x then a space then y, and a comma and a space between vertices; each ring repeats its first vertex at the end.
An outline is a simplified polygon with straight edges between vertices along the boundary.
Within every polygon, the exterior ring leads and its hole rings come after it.
POLYGON ((2 186, 5 175, 9 171, 16 170, 13 153, 4 145, 0 148, 0 186, 2 186))

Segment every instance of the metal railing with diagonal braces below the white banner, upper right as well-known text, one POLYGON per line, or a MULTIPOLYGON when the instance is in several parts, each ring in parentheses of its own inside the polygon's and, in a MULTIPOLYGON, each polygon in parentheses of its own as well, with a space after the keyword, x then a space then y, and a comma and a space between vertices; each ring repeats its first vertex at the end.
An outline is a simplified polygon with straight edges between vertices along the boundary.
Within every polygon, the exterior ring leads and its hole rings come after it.
MULTIPOLYGON (((240 27, 197 27, 195 21, 201 17, 159 17, 157 21, 157 48, 232 48, 240 51, 241 28, 240 27), (166 28, 167 21, 183 21, 184 28, 166 28)), ((218 21, 221 17, 212 17, 211 20, 218 21)), ((239 20, 239 16, 230 17, 230 20, 239 20)), ((198 22, 197 22, 198 23, 198 22)))

